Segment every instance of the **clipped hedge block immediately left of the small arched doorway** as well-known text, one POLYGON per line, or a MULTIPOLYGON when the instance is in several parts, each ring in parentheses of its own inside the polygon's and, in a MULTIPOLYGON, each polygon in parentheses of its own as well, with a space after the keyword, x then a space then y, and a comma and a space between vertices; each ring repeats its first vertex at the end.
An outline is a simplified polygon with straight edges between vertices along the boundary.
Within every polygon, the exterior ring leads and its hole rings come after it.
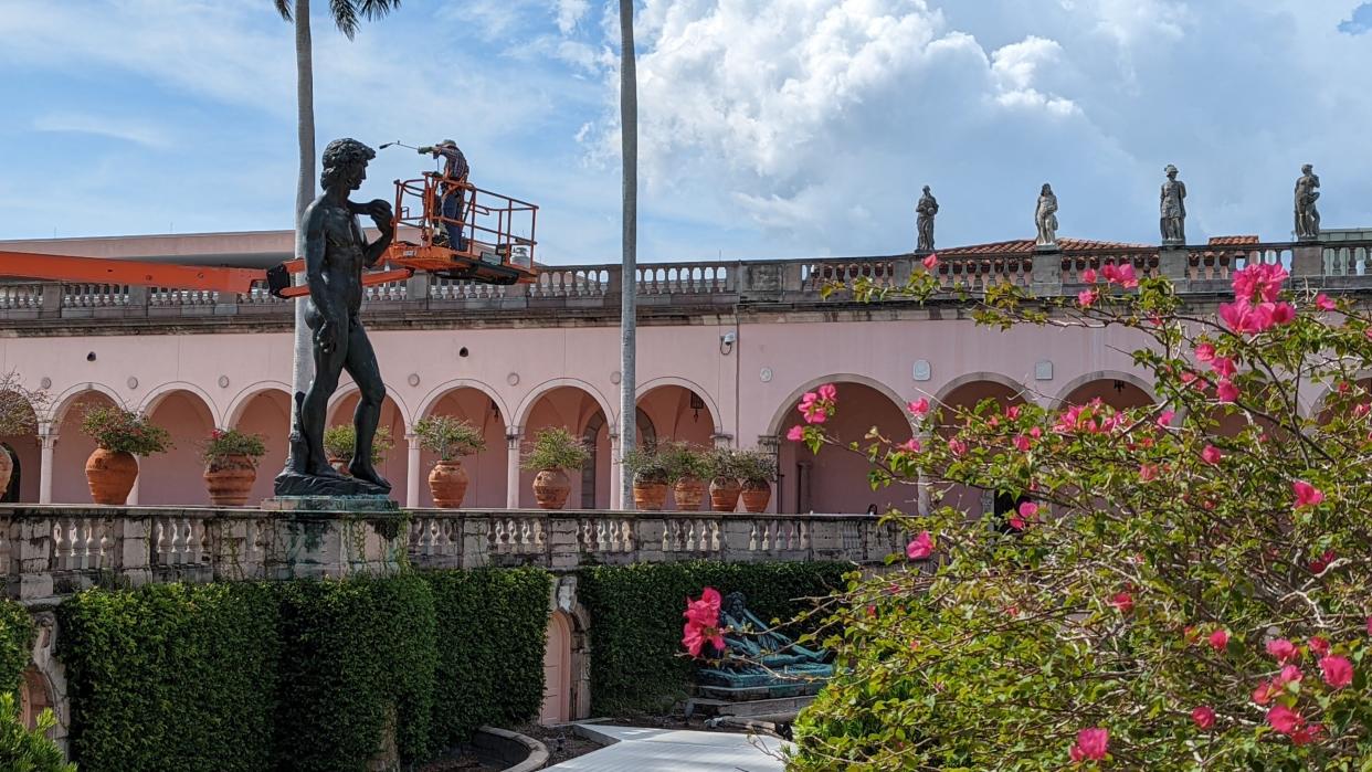
POLYGON ((434 734, 451 746, 483 724, 512 725, 543 703, 552 575, 542 569, 434 570, 439 662, 434 734))

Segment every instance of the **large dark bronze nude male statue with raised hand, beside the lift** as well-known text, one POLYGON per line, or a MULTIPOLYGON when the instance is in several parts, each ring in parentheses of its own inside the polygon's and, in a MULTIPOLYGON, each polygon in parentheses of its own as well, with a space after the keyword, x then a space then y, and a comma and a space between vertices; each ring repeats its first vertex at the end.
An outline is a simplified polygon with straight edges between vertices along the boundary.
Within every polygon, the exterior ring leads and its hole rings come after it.
POLYGON ((276 477, 277 496, 384 496, 391 484, 372 465, 372 440, 381 417, 386 385, 376 352, 362 326, 362 270, 375 265, 392 237, 391 204, 376 199, 365 204, 348 193, 366 180, 366 163, 376 152, 357 140, 333 140, 324 148, 324 193, 306 207, 296 250, 305 258, 310 295, 305 318, 313 333, 314 380, 306 394, 296 394, 296 420, 291 451, 276 477), (368 244, 358 215, 366 214, 381 232, 368 244), (353 425, 357 443, 348 474, 329 465, 324 454, 324 421, 329 396, 343 372, 358 387, 353 425))

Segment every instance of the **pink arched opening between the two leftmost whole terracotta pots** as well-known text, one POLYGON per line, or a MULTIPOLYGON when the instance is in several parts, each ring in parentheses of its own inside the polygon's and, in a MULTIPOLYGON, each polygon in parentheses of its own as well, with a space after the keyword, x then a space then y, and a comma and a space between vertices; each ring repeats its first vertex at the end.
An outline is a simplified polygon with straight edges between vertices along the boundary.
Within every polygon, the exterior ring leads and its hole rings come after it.
POLYGON ((139 459, 140 505, 209 505, 200 443, 214 431, 214 414, 199 395, 162 395, 148 420, 172 433, 173 450, 139 459))

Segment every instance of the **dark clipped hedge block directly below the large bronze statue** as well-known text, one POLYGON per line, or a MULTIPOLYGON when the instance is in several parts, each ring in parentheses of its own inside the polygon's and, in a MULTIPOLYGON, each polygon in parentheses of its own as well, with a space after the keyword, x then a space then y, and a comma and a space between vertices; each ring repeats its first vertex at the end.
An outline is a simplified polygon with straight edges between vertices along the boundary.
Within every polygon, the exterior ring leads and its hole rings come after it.
POLYGON ((390 721, 402 757, 427 754, 434 623, 413 575, 283 584, 276 768, 365 771, 390 721))

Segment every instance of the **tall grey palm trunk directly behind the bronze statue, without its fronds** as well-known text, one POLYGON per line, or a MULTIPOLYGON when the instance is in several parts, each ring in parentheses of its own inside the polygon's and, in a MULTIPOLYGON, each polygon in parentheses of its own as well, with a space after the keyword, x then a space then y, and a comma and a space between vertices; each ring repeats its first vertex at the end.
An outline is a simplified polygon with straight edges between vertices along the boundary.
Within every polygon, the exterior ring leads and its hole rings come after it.
MULTIPOLYGON (((310 0, 295 0, 295 95, 300 144, 300 176, 295 188, 295 256, 305 255, 305 207, 314 200, 314 60, 310 43, 310 0)), ((305 284, 305 273, 295 274, 305 284)), ((305 394, 314 377, 314 351, 305 325, 305 300, 295 303, 295 357, 291 367, 292 395, 305 394)), ((291 399, 291 429, 299 399, 291 399)))

